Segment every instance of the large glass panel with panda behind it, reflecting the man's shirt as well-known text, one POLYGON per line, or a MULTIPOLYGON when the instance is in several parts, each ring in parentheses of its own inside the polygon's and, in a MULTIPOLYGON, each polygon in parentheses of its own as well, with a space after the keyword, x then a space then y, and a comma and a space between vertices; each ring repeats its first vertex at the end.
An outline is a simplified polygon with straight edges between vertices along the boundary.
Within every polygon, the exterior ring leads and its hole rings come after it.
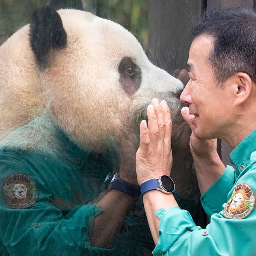
MULTIPOLYGON (((186 31, 199 2, 182 11, 186 31)), ((153 3, 1 1, 0 255, 151 255, 135 154, 153 98, 173 114, 176 199, 206 224, 180 116, 183 84, 170 75, 185 67, 189 43, 168 46, 174 21, 158 22, 172 8, 153 3)))

